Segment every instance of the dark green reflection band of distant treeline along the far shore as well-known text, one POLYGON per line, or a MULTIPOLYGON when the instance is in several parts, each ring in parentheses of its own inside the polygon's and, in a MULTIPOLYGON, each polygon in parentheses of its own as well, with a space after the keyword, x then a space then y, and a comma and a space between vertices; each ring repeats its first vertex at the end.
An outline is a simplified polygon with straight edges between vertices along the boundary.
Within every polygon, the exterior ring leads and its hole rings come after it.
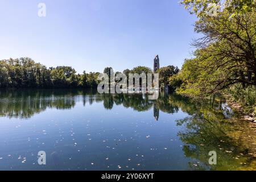
MULTIPOLYGON (((97 90, 0 90, 0 115, 29 118, 46 110, 47 107, 71 109, 81 100, 84 106, 86 103, 92 105, 93 102, 103 102, 105 109, 112 109, 114 105, 123 105, 135 111, 147 111, 153 107, 153 115, 157 118, 159 110, 164 113, 176 113, 180 108, 192 115, 197 111, 201 112, 202 109, 201 102, 197 103, 173 94, 165 96, 160 93, 158 100, 148 100, 146 94, 98 94, 97 90)), ((208 107, 204 108, 209 110, 208 107)), ((212 109, 212 112, 214 111, 216 108, 212 109)))

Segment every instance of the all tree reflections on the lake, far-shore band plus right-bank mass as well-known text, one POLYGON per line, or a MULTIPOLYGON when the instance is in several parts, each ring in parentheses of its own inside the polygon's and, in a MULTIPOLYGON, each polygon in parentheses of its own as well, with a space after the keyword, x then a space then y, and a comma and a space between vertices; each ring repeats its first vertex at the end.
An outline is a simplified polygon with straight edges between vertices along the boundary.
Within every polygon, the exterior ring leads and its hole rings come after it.
POLYGON ((177 136, 184 143, 184 155, 192 159, 188 169, 256 169, 255 125, 241 122, 221 97, 192 100, 160 93, 152 101, 146 94, 98 94, 97 90, 0 90, 0 116, 28 119, 47 109, 72 109, 78 101, 84 106, 102 103, 106 110, 114 105, 139 112, 152 109, 156 121, 161 113, 183 111, 188 117, 175 122, 181 127, 177 136), (209 151, 217 152, 217 165, 209 165, 209 151))

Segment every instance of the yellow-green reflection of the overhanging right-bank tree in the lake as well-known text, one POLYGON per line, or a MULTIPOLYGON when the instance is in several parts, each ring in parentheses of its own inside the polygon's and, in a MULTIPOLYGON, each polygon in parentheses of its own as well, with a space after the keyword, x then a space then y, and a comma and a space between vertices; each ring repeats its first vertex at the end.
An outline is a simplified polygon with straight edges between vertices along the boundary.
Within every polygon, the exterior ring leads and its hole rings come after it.
MULTIPOLYGON (((185 143, 184 155, 200 161, 190 162, 190 169, 237 170, 245 169, 255 162, 255 154, 251 154, 253 147, 249 148, 241 142, 241 138, 233 137, 234 134, 245 132, 245 125, 238 123, 241 121, 238 121, 236 115, 231 115, 232 111, 224 100, 210 98, 188 102, 191 102, 187 103, 191 107, 184 105, 185 107, 181 108, 191 115, 176 122, 179 126, 185 126, 184 130, 177 134, 185 143), (209 151, 217 152, 217 165, 209 165, 209 151)), ((255 169, 255 166, 252 168, 255 169)))

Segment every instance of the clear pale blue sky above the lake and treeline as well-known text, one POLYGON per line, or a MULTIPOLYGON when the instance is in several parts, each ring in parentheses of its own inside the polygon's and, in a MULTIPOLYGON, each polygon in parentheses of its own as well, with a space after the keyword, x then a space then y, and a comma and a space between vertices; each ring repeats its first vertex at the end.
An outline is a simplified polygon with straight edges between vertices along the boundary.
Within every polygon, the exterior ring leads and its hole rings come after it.
POLYGON ((179 0, 1 0, 0 59, 27 56, 82 73, 152 68, 158 54, 160 67, 181 67, 199 36, 195 20, 179 0))

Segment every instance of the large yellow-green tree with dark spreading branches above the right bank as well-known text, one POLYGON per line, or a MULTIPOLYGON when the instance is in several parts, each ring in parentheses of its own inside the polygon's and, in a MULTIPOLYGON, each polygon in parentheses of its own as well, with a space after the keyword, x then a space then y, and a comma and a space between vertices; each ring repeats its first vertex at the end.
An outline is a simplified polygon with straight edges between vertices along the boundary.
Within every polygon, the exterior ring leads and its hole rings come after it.
POLYGON ((203 97, 237 83, 256 85, 255 19, 254 9, 232 17, 229 7, 202 14, 195 30, 204 36, 193 43, 195 59, 184 63, 179 92, 203 97))

